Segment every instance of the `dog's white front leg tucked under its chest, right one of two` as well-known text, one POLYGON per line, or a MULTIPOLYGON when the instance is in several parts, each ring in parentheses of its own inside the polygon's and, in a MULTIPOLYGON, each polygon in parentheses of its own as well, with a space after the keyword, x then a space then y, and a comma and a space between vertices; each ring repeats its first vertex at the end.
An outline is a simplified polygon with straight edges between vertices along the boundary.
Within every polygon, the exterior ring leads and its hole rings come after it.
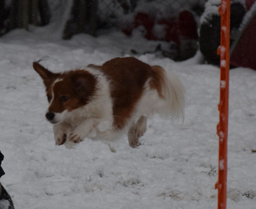
POLYGON ((86 119, 80 125, 77 125, 73 131, 68 133, 67 139, 73 143, 79 143, 87 136, 96 135, 97 120, 86 119))

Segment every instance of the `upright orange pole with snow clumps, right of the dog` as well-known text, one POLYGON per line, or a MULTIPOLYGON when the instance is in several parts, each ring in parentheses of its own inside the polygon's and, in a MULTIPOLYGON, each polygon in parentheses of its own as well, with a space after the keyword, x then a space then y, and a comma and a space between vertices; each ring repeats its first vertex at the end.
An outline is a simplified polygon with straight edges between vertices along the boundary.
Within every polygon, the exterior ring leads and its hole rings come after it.
POLYGON ((221 16, 220 46, 220 101, 219 123, 219 165, 218 182, 218 209, 226 209, 227 205, 227 139, 228 139, 228 94, 229 94, 229 40, 230 40, 230 0, 221 0, 219 7, 221 16))

